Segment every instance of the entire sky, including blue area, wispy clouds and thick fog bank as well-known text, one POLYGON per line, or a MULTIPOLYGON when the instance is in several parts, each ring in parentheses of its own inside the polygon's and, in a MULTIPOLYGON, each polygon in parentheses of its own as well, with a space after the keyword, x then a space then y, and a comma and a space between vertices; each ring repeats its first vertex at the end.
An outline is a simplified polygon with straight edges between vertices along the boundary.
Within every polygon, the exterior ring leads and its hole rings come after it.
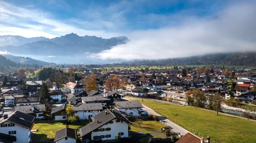
POLYGON ((166 59, 256 51, 255 14, 255 0, 0 0, 0 35, 127 36, 91 58, 166 59))

